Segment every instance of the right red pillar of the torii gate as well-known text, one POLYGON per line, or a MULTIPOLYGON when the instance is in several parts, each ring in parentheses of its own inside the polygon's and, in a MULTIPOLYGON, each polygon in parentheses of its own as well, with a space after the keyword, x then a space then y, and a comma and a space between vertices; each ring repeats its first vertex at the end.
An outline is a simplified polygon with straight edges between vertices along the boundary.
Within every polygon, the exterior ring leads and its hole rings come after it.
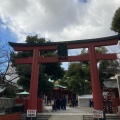
POLYGON ((95 53, 95 47, 93 45, 89 46, 89 56, 90 56, 90 72, 91 72, 94 109, 103 110, 99 73, 98 73, 97 61, 96 61, 96 53, 95 53))

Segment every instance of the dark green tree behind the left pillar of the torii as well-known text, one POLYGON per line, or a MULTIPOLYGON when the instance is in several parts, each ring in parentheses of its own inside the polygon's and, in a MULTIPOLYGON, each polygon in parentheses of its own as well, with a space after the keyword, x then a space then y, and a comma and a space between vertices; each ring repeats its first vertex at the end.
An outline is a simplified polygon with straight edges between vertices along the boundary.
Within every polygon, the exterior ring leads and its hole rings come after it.
MULTIPOLYGON (((46 41, 45 38, 38 38, 38 36, 27 36, 26 43, 47 43, 50 41, 46 41)), ((54 56, 56 55, 55 51, 41 51, 40 54, 42 56, 54 56)), ((16 67, 17 74, 19 75, 18 84, 23 86, 25 90, 29 90, 30 86, 30 78, 31 78, 31 65, 15 65, 14 61, 16 58, 27 58, 33 55, 33 52, 18 52, 12 53, 12 63, 13 66, 16 67)), ((46 63, 39 65, 39 85, 38 85, 38 94, 40 93, 49 93, 53 89, 53 83, 49 82, 49 78, 54 78, 57 80, 62 78, 64 75, 64 69, 61 68, 61 63, 46 63)))

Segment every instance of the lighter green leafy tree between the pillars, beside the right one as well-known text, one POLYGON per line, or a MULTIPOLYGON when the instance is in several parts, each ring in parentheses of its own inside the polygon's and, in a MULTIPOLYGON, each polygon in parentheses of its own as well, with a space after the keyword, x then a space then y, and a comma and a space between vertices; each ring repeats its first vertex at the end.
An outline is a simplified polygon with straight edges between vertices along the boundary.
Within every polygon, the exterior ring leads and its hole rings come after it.
POLYGON ((82 62, 71 63, 66 76, 69 76, 67 79, 68 89, 79 95, 90 93, 91 85, 88 84, 90 69, 88 64, 83 65, 82 62))

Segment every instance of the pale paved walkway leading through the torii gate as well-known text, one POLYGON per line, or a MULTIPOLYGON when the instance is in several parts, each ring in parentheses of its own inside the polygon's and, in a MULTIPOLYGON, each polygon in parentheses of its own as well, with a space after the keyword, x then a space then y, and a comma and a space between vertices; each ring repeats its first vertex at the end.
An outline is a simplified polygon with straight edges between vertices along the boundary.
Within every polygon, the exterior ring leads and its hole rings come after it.
POLYGON ((89 107, 67 107, 66 110, 52 112, 51 106, 45 106, 44 112, 39 114, 52 115, 49 120, 83 120, 83 115, 92 115, 93 108, 89 107))

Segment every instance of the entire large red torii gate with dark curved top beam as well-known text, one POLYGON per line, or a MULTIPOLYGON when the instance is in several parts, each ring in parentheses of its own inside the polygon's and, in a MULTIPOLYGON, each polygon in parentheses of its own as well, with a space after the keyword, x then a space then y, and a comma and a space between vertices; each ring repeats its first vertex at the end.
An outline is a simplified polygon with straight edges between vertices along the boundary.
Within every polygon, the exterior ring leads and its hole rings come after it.
POLYGON ((38 73, 39 73, 40 63, 90 61, 94 109, 103 110, 102 94, 101 94, 100 81, 99 81, 98 69, 97 69, 97 61, 117 59, 117 56, 116 54, 96 53, 95 47, 116 45, 118 43, 119 38, 120 35, 115 35, 115 36, 96 38, 96 39, 51 42, 51 43, 42 43, 42 44, 9 42, 9 45, 13 47, 15 51, 33 51, 33 57, 16 59, 16 64, 32 64, 28 109, 37 110, 38 73), (67 45, 67 49, 88 48, 89 52, 87 54, 77 55, 77 56, 67 56, 61 59, 59 59, 58 56, 53 56, 53 57, 40 56, 40 51, 57 50, 58 45, 61 43, 62 44, 65 43, 67 45))

